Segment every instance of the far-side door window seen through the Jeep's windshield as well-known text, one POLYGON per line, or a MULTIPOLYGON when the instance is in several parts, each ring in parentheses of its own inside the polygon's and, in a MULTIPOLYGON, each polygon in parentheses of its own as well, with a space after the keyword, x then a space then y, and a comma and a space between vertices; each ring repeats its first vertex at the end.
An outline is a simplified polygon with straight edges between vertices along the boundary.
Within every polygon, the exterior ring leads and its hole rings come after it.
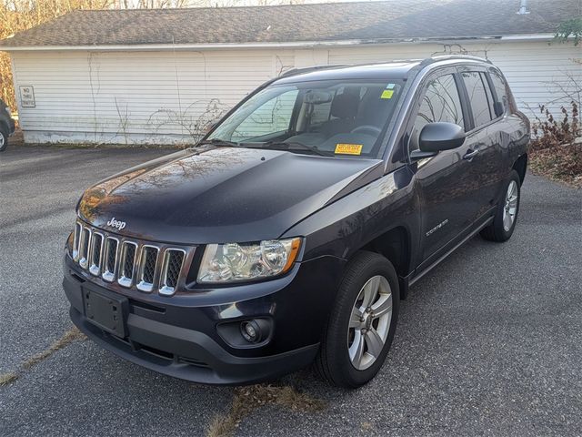
POLYGON ((298 91, 287 91, 257 107, 236 127, 232 141, 246 141, 275 132, 286 131, 291 122, 298 91))

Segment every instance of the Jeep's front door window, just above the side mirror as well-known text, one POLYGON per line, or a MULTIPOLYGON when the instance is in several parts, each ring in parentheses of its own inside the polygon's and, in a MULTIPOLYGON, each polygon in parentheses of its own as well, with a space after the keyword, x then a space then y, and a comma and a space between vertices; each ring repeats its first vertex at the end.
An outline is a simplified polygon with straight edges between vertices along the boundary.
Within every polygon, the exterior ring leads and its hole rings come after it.
POLYGON ((410 135, 410 150, 418 148, 418 137, 422 128, 435 121, 446 121, 465 127, 461 99, 458 96, 457 83, 453 75, 437 77, 426 86, 425 96, 418 108, 418 115, 410 135))

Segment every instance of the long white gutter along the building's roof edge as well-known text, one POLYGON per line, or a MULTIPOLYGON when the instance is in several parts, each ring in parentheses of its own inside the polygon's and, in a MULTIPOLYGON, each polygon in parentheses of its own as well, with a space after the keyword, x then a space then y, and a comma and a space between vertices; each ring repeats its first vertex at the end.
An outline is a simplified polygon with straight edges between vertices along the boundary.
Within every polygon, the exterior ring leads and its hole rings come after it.
MULTIPOLYGON (((466 43, 482 41, 547 41, 554 34, 530 34, 512 36, 463 36, 434 38, 401 38, 401 39, 346 39, 338 41, 296 41, 267 43, 218 43, 218 44, 129 44, 129 45, 86 45, 86 46, 2 46, 0 51, 163 51, 163 50, 227 50, 227 49, 261 49, 261 48, 314 48, 329 46, 361 46, 361 45, 402 45, 402 44, 440 44, 464 41, 466 43)), ((9 41, 9 38, 5 39, 9 41)))

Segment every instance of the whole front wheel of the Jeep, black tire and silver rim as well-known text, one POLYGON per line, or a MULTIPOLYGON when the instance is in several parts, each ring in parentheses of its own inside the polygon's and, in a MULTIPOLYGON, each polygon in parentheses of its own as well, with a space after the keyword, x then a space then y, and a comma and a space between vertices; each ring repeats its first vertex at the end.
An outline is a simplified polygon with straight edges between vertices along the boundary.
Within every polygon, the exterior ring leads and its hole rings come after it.
POLYGON ((356 254, 337 292, 316 370, 330 383, 349 389, 372 380, 394 339, 400 290, 396 270, 373 252, 356 254))

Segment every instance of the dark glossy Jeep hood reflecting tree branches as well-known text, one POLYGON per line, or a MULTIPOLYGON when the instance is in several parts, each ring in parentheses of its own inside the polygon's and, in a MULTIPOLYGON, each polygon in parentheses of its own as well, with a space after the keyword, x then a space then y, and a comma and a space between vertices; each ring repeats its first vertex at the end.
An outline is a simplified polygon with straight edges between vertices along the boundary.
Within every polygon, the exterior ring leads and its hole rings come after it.
POLYGON ((99 182, 85 191, 77 213, 96 228, 137 239, 183 244, 276 239, 380 178, 382 162, 252 148, 188 149, 99 182), (107 225, 114 218, 125 227, 107 225))

